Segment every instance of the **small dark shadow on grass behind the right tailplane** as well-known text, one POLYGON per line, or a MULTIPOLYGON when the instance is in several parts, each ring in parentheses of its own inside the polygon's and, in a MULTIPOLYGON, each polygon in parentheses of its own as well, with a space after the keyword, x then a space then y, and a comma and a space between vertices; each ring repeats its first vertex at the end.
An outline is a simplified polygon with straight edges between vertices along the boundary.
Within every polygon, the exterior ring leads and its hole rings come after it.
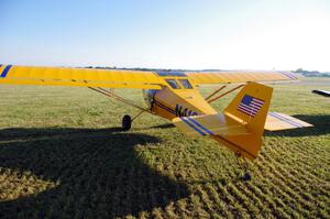
POLYGON ((270 132, 265 131, 266 136, 311 136, 311 135, 322 135, 330 133, 330 114, 295 114, 293 116, 299 120, 308 122, 314 127, 284 130, 270 132))

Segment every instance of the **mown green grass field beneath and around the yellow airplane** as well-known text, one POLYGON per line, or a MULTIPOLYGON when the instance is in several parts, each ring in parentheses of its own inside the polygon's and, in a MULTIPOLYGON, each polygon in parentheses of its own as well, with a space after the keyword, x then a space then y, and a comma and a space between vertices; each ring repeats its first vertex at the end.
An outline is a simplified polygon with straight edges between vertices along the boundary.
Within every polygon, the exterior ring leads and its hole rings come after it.
POLYGON ((150 114, 121 132, 138 111, 89 89, 1 85, 0 218, 330 218, 330 98, 310 92, 330 80, 274 87, 273 111, 315 127, 266 132, 243 182, 217 142, 150 114))

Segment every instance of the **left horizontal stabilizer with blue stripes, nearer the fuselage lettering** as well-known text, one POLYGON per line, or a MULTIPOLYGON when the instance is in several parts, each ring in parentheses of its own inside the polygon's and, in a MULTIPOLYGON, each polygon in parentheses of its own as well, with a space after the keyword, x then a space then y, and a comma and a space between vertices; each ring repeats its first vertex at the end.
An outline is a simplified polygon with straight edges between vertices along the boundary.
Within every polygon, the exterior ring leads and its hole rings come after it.
POLYGON ((245 125, 223 113, 179 117, 172 121, 187 135, 238 135, 248 133, 245 125))

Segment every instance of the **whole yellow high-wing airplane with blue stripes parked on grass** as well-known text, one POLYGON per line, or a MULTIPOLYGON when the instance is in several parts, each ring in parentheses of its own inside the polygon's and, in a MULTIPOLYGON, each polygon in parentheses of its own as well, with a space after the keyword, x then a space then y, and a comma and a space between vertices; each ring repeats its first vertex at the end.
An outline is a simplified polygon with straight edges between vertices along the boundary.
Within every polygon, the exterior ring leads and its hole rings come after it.
MULTIPOLYGON (((293 117, 268 112, 273 88, 256 83, 296 79, 287 72, 141 72, 0 65, 0 84, 89 87, 138 108, 141 113, 170 120, 187 135, 209 135, 250 160, 256 158, 260 152, 264 130, 311 127, 293 117), (206 84, 224 85, 204 98, 198 86, 206 84), (238 86, 219 95, 226 84, 238 86), (140 107, 106 88, 143 89, 148 107, 140 107), (239 88, 242 89, 223 112, 211 107, 211 102, 239 88)), ((129 130, 135 118, 124 116, 123 130, 129 130)))

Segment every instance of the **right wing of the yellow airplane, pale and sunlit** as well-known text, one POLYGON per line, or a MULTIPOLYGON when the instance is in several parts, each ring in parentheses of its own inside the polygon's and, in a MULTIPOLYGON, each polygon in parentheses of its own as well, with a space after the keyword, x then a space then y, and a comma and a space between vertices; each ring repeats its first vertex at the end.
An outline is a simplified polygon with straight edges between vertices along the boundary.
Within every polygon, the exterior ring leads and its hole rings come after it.
POLYGON ((292 73, 275 72, 275 70, 272 72, 252 72, 252 70, 191 72, 191 73, 187 73, 187 75, 195 85, 298 79, 292 73))

